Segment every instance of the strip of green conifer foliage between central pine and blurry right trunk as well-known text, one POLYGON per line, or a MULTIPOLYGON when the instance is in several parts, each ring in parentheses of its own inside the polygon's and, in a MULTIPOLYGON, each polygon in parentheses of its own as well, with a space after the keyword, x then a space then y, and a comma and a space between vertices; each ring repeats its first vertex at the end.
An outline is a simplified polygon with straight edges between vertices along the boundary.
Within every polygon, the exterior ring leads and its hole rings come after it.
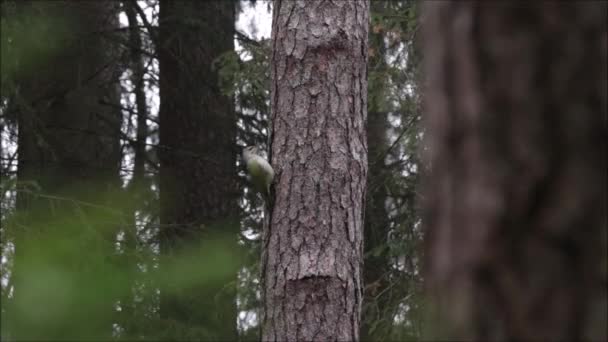
POLYGON ((416 340, 423 322, 417 3, 372 2, 364 338, 416 340))

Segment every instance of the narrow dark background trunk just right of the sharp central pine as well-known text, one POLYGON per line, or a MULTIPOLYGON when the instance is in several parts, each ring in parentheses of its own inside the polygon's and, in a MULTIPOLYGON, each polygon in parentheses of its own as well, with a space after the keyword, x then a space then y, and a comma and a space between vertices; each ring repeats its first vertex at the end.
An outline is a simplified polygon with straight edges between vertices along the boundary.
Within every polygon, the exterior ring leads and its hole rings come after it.
MULTIPOLYGON (((381 11, 386 4, 382 1, 371 3, 372 11, 381 11)), ((386 48, 383 31, 369 33, 369 68, 371 72, 382 73, 386 70, 386 48)), ((367 143, 369 146, 369 173, 367 177, 367 194, 364 225, 363 268, 363 312, 361 321, 361 339, 377 340, 388 336, 392 326, 393 314, 390 312, 390 292, 385 291, 391 265, 388 255, 389 219, 386 210, 388 174, 383 156, 389 148, 387 130, 389 123, 387 113, 382 109, 385 78, 370 79, 368 98, 367 143)))

